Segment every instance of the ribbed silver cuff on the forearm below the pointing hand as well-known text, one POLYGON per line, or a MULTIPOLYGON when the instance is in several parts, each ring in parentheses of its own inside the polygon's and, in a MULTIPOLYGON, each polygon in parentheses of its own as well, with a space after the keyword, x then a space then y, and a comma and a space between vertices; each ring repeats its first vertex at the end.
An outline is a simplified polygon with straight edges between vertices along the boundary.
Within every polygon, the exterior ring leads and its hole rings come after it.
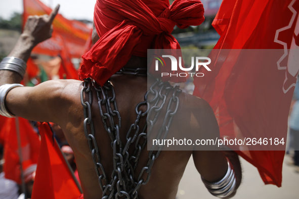
POLYGON ((21 77, 24 77, 26 72, 26 62, 16 57, 6 57, 0 63, 0 70, 11 70, 19 73, 21 77))

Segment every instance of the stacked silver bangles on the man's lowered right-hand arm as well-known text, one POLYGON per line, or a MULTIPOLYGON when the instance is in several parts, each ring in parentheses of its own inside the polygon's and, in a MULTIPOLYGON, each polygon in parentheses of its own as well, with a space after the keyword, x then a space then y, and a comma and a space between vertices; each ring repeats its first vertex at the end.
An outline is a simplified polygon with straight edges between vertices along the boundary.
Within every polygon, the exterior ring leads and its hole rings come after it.
POLYGON ((218 182, 208 182, 202 179, 207 190, 217 197, 223 198, 230 195, 236 188, 236 176, 230 161, 227 159, 228 169, 225 176, 218 182))

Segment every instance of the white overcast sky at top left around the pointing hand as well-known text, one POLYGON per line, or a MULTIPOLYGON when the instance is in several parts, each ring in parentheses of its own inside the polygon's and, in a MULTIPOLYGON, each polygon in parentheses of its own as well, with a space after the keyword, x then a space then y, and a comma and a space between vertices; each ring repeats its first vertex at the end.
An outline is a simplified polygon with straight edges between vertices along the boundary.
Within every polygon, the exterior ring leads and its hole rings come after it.
MULTIPOLYGON (((50 8, 60 4, 59 13, 67 19, 93 21, 96 0, 40 0, 50 8)), ((23 0, 0 0, 0 16, 9 19, 14 12, 23 13, 23 0)))

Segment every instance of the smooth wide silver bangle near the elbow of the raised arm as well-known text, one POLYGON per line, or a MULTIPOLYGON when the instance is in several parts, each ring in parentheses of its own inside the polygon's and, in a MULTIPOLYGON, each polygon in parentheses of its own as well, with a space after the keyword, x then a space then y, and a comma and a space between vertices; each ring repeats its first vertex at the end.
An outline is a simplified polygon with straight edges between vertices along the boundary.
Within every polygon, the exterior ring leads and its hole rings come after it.
POLYGON ((13 118, 16 117, 14 115, 12 115, 11 113, 8 112, 8 110, 6 109, 5 106, 5 98, 7 93, 15 88, 15 87, 19 87, 19 86, 23 86, 22 84, 4 84, 2 86, 0 86, 0 115, 8 117, 8 118, 13 118))

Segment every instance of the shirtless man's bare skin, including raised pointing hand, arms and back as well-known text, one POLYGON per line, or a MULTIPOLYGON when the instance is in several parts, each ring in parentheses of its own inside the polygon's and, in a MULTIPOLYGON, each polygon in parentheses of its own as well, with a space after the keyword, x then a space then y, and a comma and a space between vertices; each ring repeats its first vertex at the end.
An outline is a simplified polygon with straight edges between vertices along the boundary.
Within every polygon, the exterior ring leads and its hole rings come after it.
MULTIPOLYGON (((59 6, 55 8, 50 16, 29 17, 24 32, 9 57, 20 58, 26 62, 33 47, 51 37, 51 24, 58 10, 59 6)), ((99 36, 95 28, 93 31, 93 42, 96 42, 99 36)), ((146 68, 147 60, 132 56, 124 67, 146 68)), ((21 80, 20 74, 14 71, 0 70, 0 86, 20 83, 21 80)), ((115 74, 110 77, 110 82, 115 90, 118 111, 122 118, 120 139, 123 143, 125 143, 127 130, 135 122, 135 107, 144 101, 148 81, 154 82, 156 80, 154 78, 147 79, 146 76, 124 74, 115 74)), ((67 141, 73 149, 84 198, 99 198, 102 197, 102 190, 99 188, 98 176, 83 130, 83 107, 80 101, 82 88, 82 81, 77 80, 50 80, 34 87, 15 87, 8 92, 5 106, 7 111, 15 116, 33 121, 58 124, 63 129, 67 141)), ((91 107, 96 132, 95 137, 101 163, 107 173, 108 181, 110 181, 110 174, 113 171, 111 139, 104 129, 94 88, 91 92, 95 102, 91 107)), ((198 137, 219 137, 219 128, 215 115, 204 100, 187 93, 181 93, 179 98, 180 109, 178 115, 191 118, 192 114, 195 120, 184 121, 181 129, 174 129, 170 126, 169 131, 180 132, 184 129, 187 132, 197 132, 198 137)), ((141 109, 146 110, 146 106, 141 109)), ((173 123, 179 122, 179 120, 181 118, 174 117, 173 123)), ((140 124, 144 125, 145 122, 145 119, 142 119, 140 124)), ((234 192, 225 198, 230 198, 235 194, 241 182, 241 168, 237 154, 222 151, 196 151, 196 148, 194 148, 194 151, 161 151, 151 169, 149 182, 138 190, 138 198, 174 199, 191 155, 198 172, 207 182, 218 182, 224 178, 228 171, 228 158, 235 171, 236 185, 234 192)), ((135 170, 137 176, 148 160, 148 151, 144 149, 135 170)), ((201 180, 198 179, 198 181, 201 180)))

